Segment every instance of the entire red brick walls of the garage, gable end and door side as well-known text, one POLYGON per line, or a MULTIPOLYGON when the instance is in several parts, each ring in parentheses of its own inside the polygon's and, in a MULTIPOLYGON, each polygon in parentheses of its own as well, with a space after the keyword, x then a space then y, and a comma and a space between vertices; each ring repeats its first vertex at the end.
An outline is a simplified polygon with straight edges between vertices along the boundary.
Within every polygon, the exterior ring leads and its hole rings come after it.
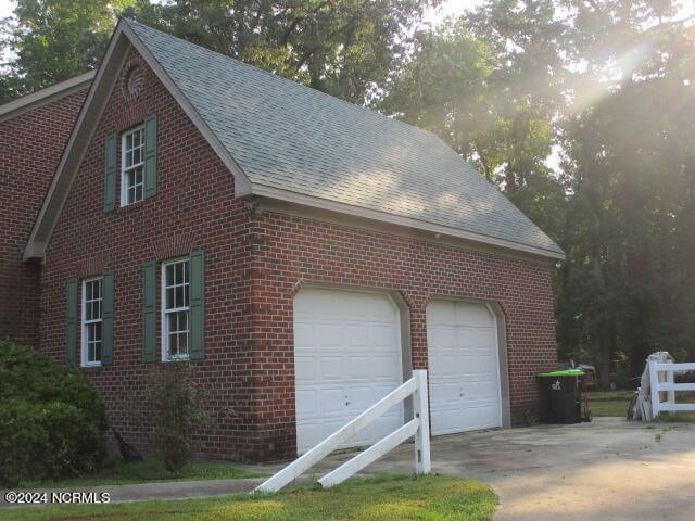
MULTIPOLYGON (((125 69, 138 60, 131 51, 125 69)), ((205 359, 194 364, 197 380, 211 395, 207 456, 294 454, 292 297, 309 279, 401 291, 412 306, 415 367, 427 359, 424 310, 431 294, 498 301, 507 314, 515 420, 534 408, 531 374, 555 360, 547 265, 257 215, 235 201, 231 174, 151 72, 135 100, 116 87, 47 250, 41 346, 56 360, 64 358, 66 280, 113 268, 113 365, 83 371, 106 398, 112 425, 127 441, 151 448, 151 425, 138 409, 149 371, 161 365, 141 361, 142 265, 192 250, 205 252, 205 359), (104 137, 153 112, 157 195, 104 213, 104 137)))

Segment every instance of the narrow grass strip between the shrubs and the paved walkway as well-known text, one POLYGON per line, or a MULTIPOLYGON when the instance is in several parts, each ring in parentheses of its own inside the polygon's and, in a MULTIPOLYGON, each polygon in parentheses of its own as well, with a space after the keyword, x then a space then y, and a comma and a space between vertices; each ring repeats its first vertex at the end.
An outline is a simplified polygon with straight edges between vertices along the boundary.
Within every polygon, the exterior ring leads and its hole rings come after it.
POLYGON ((103 469, 91 474, 68 478, 61 481, 23 483, 23 488, 70 488, 75 486, 125 485, 153 481, 193 481, 193 480, 238 480, 242 478, 263 478, 258 474, 238 469, 228 463, 191 462, 180 472, 169 472, 157 459, 146 459, 136 463, 125 463, 121 457, 111 457, 103 469))

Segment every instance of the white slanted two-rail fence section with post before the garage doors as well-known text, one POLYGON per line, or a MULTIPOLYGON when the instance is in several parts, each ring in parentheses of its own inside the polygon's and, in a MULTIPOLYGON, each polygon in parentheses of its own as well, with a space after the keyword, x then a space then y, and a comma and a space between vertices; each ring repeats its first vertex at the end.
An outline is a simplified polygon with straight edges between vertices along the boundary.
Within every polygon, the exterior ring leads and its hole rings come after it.
POLYGON ((314 448, 304 453, 293 462, 285 467, 277 474, 261 483, 254 492, 278 492, 302 475, 317 462, 354 436, 357 432, 369 425, 372 421, 413 395, 413 409, 415 418, 405 425, 359 453, 350 461, 341 465, 336 470, 324 475, 318 483, 323 487, 329 487, 342 483, 351 475, 359 472, 369 463, 392 450, 407 439, 415 436, 415 472, 429 474, 432 471, 430 461, 430 420, 427 395, 427 371, 413 371, 413 378, 401 386, 387 394, 375 405, 348 422, 333 434, 328 436, 314 448))

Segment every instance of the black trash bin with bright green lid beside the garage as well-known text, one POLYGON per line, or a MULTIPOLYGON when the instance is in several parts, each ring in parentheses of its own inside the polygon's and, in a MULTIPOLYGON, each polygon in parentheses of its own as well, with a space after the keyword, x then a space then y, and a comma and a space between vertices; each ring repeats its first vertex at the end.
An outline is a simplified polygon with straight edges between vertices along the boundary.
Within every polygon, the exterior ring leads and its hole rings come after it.
POLYGON ((543 423, 579 423, 582 421, 582 389, 584 371, 566 369, 542 372, 541 421, 543 423))

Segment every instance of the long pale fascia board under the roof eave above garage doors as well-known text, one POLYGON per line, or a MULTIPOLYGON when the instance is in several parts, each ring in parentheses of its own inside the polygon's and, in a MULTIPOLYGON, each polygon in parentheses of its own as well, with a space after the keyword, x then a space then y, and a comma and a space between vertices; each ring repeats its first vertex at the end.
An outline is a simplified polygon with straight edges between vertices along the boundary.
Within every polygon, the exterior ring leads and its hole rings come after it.
POLYGON ((336 201, 328 201, 326 199, 291 192, 291 191, 282 190, 279 188, 267 187, 263 185, 253 185, 252 194, 263 196, 263 198, 268 198, 268 199, 276 199, 279 201, 286 201, 286 202, 294 203, 302 206, 321 208, 329 212, 336 212, 339 214, 345 214, 354 217, 361 217, 365 219, 388 223, 391 225, 402 226, 405 228, 425 230, 432 233, 441 233, 442 236, 464 239, 466 241, 477 242, 477 243, 481 243, 490 246, 502 247, 505 250, 523 252, 532 255, 538 255, 541 257, 552 258, 555 260, 565 259, 564 253, 553 252, 551 250, 544 250, 542 247, 520 244, 518 242, 497 239, 495 237, 483 236, 482 233, 475 233, 471 231, 451 228, 447 226, 437 225, 433 223, 426 223, 424 220, 413 219, 410 217, 404 217, 400 215, 389 214, 386 212, 379 212, 376 209, 369 209, 362 206, 353 206, 350 204, 339 203, 336 201))

